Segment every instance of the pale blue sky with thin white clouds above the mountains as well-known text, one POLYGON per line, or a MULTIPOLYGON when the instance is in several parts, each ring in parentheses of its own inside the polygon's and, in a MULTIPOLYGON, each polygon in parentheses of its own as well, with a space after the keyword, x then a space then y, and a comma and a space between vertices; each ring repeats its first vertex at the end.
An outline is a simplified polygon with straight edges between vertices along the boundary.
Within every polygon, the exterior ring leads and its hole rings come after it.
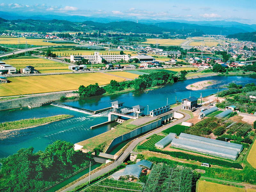
POLYGON ((0 11, 136 18, 138 20, 226 20, 256 24, 255 0, 1 0, 0 11))

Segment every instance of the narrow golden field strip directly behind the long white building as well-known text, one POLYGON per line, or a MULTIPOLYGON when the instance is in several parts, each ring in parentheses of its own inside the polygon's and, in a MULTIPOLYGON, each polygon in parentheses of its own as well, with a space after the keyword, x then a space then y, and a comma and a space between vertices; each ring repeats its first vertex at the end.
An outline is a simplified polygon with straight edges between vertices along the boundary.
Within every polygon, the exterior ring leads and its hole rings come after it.
MULTIPOLYGON (((58 51, 58 50, 52 50, 53 53, 55 53, 56 55, 58 56, 70 56, 70 55, 94 55, 94 52, 100 52, 101 55, 105 55, 105 54, 110 54, 112 53, 112 55, 118 55, 120 53, 120 51, 108 51, 108 50, 99 50, 99 51, 96 51, 96 50, 71 50, 71 49, 67 49, 67 50, 61 50, 61 51, 58 51)), ((138 55, 136 53, 132 53, 132 51, 124 51, 125 54, 131 54, 132 56, 134 55, 138 55)))

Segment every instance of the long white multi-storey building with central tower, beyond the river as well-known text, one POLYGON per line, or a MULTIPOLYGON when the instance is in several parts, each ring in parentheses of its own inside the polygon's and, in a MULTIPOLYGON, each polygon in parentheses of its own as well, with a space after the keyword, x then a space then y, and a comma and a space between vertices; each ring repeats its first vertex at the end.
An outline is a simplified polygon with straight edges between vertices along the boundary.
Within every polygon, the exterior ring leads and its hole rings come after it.
POLYGON ((102 60, 108 62, 113 61, 129 61, 129 55, 100 55, 99 52, 94 52, 94 55, 70 55, 70 61, 76 62, 82 59, 88 59, 91 63, 102 63, 102 60))

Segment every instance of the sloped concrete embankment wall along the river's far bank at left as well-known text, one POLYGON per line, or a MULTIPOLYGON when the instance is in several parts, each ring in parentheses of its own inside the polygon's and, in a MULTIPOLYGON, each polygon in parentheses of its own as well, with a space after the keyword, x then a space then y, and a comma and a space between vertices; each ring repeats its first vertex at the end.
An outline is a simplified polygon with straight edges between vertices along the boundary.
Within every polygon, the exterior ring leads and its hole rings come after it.
POLYGON ((28 107, 28 105, 36 105, 44 102, 48 102, 51 100, 60 100, 60 97, 71 97, 78 96, 77 93, 55 93, 55 94, 45 94, 41 96, 34 97, 24 97, 16 100, 7 100, 5 102, 0 102, 0 110, 11 109, 11 108, 22 108, 28 107))

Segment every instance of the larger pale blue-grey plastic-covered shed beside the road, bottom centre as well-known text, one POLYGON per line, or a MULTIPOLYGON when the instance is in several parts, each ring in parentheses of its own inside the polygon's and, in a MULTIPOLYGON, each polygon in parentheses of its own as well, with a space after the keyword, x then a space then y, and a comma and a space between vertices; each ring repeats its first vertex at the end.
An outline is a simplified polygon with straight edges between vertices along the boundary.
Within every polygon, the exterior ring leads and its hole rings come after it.
POLYGON ((142 171, 142 167, 136 164, 132 164, 132 165, 127 165, 123 171, 115 172, 111 176, 113 177, 114 180, 119 180, 119 178, 122 176, 133 176, 139 179, 141 171, 142 171))

